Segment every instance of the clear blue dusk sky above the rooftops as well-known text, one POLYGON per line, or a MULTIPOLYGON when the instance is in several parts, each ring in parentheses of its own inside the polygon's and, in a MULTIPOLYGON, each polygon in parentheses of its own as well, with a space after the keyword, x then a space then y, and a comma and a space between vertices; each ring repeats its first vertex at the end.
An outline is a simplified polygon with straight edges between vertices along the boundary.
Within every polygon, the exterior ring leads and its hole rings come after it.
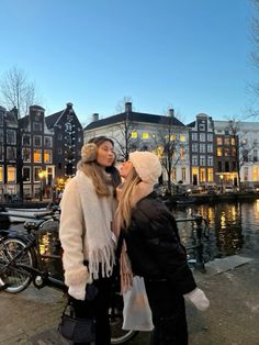
POLYGON ((187 124, 255 105, 250 0, 0 0, 0 77, 23 69, 46 115, 72 102, 87 124, 127 97, 187 124))

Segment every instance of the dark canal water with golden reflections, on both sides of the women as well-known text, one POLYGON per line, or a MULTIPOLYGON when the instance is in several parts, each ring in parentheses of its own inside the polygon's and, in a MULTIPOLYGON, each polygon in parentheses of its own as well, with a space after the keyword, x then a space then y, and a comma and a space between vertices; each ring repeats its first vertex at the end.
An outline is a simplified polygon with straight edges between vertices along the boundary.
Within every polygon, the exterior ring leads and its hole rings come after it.
MULTIPOLYGON (((201 214, 209 222, 203 232, 203 256, 205 261, 235 254, 259 256, 259 199, 251 202, 221 202, 213 204, 190 204, 172 207, 176 219, 191 218, 201 214)), ((60 260, 47 258, 60 255, 57 223, 50 222, 41 231, 41 254, 46 255, 47 266, 60 271, 60 260)), ((195 226, 191 222, 179 223, 182 243, 187 246, 196 244, 195 226)), ((22 231, 22 225, 14 225, 22 231)), ((188 251, 189 259, 195 257, 194 251, 188 251)))

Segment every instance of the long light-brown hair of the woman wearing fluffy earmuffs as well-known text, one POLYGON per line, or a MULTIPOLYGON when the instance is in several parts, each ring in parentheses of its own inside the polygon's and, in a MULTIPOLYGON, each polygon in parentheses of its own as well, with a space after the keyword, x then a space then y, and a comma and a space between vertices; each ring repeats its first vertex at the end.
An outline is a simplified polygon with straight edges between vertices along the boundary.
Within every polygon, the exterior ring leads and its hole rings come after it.
POLYGON ((100 197, 111 196, 108 185, 112 185, 112 180, 97 162, 85 163, 83 159, 81 159, 77 168, 92 179, 97 194, 100 197))

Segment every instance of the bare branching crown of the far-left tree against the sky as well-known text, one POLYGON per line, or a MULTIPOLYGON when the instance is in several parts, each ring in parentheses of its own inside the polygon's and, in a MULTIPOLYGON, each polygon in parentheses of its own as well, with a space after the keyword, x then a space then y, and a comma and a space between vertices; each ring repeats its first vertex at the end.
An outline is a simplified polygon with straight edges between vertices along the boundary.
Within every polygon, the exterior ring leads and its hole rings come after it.
POLYGON ((18 119, 29 114, 36 102, 36 86, 30 82, 23 69, 12 67, 0 80, 0 102, 7 109, 15 108, 18 119))

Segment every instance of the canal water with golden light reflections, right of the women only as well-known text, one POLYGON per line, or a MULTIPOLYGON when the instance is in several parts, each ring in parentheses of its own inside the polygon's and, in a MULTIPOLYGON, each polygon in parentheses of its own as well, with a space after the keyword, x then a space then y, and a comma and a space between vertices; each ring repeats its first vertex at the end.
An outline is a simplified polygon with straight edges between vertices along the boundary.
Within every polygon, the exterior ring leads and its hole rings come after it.
MULTIPOLYGON (((259 251, 259 200, 173 208, 172 213, 176 218, 199 213, 209 221, 210 234, 203 236, 205 260, 259 251)), ((195 229, 190 223, 179 229, 183 244, 192 245, 195 229)))

